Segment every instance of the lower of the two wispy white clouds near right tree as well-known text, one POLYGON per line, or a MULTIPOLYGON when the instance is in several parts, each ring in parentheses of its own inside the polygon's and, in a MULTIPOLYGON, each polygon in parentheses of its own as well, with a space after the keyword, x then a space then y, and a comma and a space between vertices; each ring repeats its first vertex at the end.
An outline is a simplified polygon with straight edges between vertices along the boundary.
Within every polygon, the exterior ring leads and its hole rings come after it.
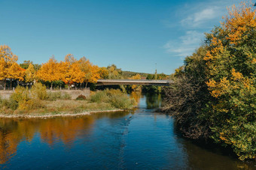
POLYGON ((172 55, 186 57, 191 55, 200 46, 203 36, 204 34, 198 31, 187 31, 184 36, 178 38, 178 41, 170 40, 163 48, 172 55))

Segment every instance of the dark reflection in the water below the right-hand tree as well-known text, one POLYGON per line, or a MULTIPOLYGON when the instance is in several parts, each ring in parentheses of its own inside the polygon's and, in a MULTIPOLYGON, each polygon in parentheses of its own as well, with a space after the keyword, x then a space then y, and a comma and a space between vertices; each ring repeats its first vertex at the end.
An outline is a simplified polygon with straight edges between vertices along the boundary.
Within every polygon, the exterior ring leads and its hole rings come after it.
POLYGON ((253 162, 242 162, 217 145, 195 144, 187 139, 181 143, 187 154, 187 167, 191 169, 254 169, 253 162))

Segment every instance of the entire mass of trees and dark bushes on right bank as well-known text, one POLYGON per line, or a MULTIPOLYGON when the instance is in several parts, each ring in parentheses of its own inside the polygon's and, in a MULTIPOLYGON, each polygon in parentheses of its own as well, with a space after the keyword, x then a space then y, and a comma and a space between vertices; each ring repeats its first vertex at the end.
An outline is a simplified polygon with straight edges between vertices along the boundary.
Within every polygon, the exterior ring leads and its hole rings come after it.
POLYGON ((184 136, 213 139, 256 158, 256 11, 233 6, 221 26, 175 70, 163 110, 184 136))

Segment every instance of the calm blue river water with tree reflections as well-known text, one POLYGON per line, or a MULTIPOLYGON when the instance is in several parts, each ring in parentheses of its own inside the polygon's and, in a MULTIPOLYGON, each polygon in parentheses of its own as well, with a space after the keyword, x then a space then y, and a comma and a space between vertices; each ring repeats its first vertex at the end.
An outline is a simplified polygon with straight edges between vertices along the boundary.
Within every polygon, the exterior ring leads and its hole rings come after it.
POLYGON ((182 138, 172 117, 155 112, 160 96, 137 100, 130 112, 0 119, 0 169, 256 169, 182 138))

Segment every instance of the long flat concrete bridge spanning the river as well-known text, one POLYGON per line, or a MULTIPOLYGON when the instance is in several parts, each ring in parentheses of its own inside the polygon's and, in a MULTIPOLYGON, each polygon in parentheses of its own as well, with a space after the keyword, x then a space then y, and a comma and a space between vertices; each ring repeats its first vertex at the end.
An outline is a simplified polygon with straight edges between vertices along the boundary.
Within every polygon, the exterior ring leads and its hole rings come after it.
POLYGON ((168 86, 170 80, 157 79, 98 79, 97 85, 162 85, 168 86))

